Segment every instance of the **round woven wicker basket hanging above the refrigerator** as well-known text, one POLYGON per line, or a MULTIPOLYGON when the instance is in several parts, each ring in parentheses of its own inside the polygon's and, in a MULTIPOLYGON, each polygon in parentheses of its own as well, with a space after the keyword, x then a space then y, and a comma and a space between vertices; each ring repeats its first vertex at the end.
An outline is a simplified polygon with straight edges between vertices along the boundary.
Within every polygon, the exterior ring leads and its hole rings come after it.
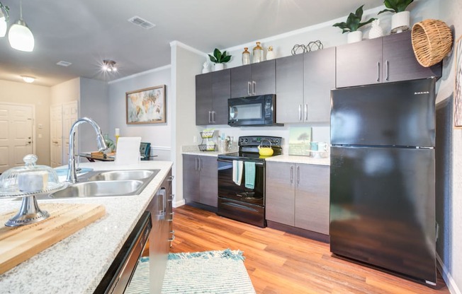
POLYGON ((429 67, 451 52, 451 29, 441 20, 426 19, 412 26, 412 49, 419 64, 429 67))

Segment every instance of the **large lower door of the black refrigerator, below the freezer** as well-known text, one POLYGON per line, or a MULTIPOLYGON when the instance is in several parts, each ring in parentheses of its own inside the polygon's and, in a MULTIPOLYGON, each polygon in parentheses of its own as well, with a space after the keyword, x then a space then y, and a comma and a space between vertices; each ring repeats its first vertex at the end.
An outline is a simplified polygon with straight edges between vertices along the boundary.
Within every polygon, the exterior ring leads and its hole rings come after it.
POLYGON ((331 252, 436 283, 434 150, 331 152, 331 252))

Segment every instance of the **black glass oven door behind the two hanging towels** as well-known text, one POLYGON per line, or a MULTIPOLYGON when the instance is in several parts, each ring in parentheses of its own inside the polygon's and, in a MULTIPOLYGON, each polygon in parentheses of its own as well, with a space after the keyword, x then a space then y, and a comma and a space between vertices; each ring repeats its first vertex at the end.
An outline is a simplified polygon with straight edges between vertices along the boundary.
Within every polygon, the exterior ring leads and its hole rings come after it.
POLYGON ((235 182, 232 181, 232 160, 218 158, 218 197, 243 201, 257 206, 264 206, 264 194, 264 162, 255 162, 254 189, 249 189, 245 187, 245 167, 242 167, 241 184, 237 185, 235 182))

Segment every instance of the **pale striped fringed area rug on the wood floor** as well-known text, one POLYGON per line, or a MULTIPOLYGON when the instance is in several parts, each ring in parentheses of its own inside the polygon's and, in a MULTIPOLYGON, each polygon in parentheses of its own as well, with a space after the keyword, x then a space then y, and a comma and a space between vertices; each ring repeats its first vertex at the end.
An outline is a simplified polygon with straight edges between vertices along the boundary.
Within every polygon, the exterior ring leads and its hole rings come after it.
MULTIPOLYGON (((240 250, 171 253, 162 294, 254 294, 240 250)), ((149 294, 149 257, 138 264, 127 294, 149 294)))

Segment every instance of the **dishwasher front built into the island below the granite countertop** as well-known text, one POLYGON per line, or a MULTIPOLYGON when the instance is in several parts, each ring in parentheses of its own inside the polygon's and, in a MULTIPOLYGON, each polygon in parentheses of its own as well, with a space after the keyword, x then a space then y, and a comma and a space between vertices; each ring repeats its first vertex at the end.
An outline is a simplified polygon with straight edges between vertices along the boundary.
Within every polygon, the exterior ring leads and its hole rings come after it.
POLYGON ((151 213, 145 211, 128 236, 116 259, 104 275, 94 293, 124 293, 135 273, 152 229, 151 213))

